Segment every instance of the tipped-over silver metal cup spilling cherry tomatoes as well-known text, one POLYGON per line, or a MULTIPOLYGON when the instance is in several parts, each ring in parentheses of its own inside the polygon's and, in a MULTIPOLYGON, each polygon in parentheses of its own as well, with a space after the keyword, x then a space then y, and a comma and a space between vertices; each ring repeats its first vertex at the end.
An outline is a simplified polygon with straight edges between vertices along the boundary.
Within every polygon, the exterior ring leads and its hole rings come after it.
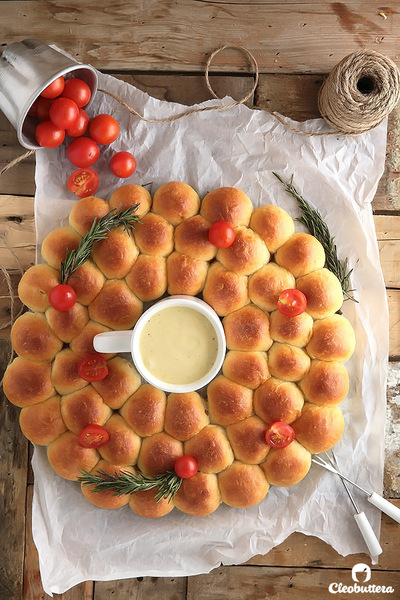
POLYGON ((83 79, 92 93, 90 104, 97 90, 97 73, 92 66, 79 63, 38 40, 16 42, 3 50, 0 110, 17 130, 18 140, 25 148, 41 148, 35 138, 37 120, 28 112, 40 93, 61 75, 83 79))

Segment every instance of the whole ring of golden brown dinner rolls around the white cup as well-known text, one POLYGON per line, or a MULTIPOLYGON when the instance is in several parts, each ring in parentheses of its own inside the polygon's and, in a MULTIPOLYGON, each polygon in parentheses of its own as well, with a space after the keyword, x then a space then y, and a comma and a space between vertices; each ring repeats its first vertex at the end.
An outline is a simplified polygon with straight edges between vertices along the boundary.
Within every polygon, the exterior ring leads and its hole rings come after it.
POLYGON ((58 475, 74 481, 82 469, 153 477, 173 470, 182 455, 195 458, 197 474, 183 479, 172 501, 157 491, 115 496, 82 486, 93 504, 129 506, 159 518, 174 507, 193 516, 223 502, 246 508, 271 485, 292 486, 311 466, 312 453, 340 439, 338 405, 349 391, 343 363, 354 352, 338 279, 325 267, 313 236, 295 232, 293 219, 272 204, 254 208, 232 187, 199 198, 187 183, 168 182, 153 198, 139 185, 123 185, 109 201, 90 196, 73 206, 69 225, 42 244, 43 264, 21 278, 19 296, 29 312, 13 325, 17 357, 4 376, 4 391, 21 408, 20 424, 33 443, 47 446, 58 475), (60 261, 79 244, 95 217, 137 205, 132 235, 122 227, 96 242, 92 255, 69 278, 73 308, 57 312, 48 293, 60 282, 60 261), (229 222, 233 244, 217 249, 208 239, 216 221, 229 222), (279 294, 298 288, 306 311, 287 317, 279 294), (93 353, 97 333, 131 329, 146 305, 164 294, 201 295, 222 320, 227 354, 222 372, 206 390, 166 394, 143 382, 131 361, 104 354, 108 375, 89 383, 77 370, 93 353), (266 429, 290 424, 295 439, 271 448, 266 429), (109 440, 97 449, 78 443, 88 424, 103 426, 109 440))

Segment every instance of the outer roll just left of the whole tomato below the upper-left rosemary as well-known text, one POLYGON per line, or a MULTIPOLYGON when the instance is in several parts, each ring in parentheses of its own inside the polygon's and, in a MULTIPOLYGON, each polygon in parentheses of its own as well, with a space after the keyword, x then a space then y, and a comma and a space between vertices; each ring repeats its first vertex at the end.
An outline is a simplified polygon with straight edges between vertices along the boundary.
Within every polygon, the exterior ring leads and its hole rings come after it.
POLYGON ((49 265, 33 265, 22 275, 18 284, 21 302, 31 310, 44 312, 50 306, 49 292, 60 283, 60 273, 49 265))

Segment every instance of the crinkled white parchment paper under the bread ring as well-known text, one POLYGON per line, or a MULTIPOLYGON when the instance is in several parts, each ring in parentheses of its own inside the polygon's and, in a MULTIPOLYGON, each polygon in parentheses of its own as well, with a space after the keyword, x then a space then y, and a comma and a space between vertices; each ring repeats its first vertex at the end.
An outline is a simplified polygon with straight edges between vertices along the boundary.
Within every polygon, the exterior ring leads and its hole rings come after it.
MULTIPOLYGON (((184 109, 100 73, 99 86, 149 118, 169 117, 184 109)), ((228 102, 230 98, 222 101, 228 102)), ((241 105, 170 124, 148 124, 98 92, 90 113, 101 112, 112 114, 121 125, 120 137, 111 148, 102 149, 95 166, 101 178, 96 195, 105 199, 126 183, 151 183, 154 192, 167 181, 181 180, 201 197, 220 186, 236 186, 255 207, 275 203, 296 217, 295 201, 272 171, 285 179, 294 174, 297 188, 328 223, 340 257, 349 257, 359 300, 344 305, 357 349, 346 365, 351 389, 341 405, 346 428, 335 452, 347 475, 381 493, 388 310, 371 201, 384 168, 386 123, 358 137, 304 137, 266 112, 241 105), (116 181, 109 170, 110 155, 119 150, 131 151, 137 159, 137 170, 128 180, 116 181)), ((320 119, 294 124, 311 132, 328 130, 320 119)), ((49 231, 67 223, 75 198, 66 180, 74 169, 64 146, 38 151, 36 161, 40 243, 49 231)), ((156 520, 143 519, 128 507, 105 511, 91 505, 77 483, 53 472, 45 448, 35 449, 33 468, 33 536, 43 587, 50 595, 85 580, 206 573, 221 563, 239 564, 265 554, 294 531, 317 536, 342 555, 366 551, 340 480, 316 465, 298 485, 272 487, 253 508, 221 505, 203 518, 174 509, 156 520)), ((355 493, 379 535, 379 511, 355 493)))

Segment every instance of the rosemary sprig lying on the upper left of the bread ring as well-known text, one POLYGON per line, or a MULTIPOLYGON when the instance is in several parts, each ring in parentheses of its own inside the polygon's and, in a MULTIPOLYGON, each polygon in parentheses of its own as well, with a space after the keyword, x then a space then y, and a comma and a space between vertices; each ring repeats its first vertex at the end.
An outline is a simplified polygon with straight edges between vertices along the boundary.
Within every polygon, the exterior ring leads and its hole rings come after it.
POLYGON ((138 222, 139 217, 134 213, 137 211, 139 204, 134 204, 129 208, 116 208, 110 210, 104 217, 94 219, 92 226, 85 233, 79 246, 75 250, 66 252, 65 261, 61 262, 61 283, 65 283, 72 273, 79 269, 84 262, 90 257, 93 249, 93 244, 104 240, 107 237, 110 229, 115 227, 124 227, 129 233, 130 229, 134 229, 134 224, 138 222))

